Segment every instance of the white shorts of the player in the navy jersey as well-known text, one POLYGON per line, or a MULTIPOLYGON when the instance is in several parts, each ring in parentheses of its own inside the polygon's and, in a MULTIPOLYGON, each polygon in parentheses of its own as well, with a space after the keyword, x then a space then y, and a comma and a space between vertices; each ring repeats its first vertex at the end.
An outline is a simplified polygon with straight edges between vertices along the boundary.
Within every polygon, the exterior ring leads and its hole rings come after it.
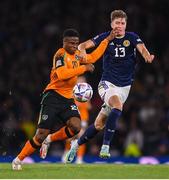
POLYGON ((130 92, 131 85, 118 87, 108 81, 100 81, 98 85, 98 92, 101 99, 104 101, 101 112, 105 115, 109 115, 111 108, 108 104, 109 98, 112 96, 118 96, 122 104, 125 103, 130 92))

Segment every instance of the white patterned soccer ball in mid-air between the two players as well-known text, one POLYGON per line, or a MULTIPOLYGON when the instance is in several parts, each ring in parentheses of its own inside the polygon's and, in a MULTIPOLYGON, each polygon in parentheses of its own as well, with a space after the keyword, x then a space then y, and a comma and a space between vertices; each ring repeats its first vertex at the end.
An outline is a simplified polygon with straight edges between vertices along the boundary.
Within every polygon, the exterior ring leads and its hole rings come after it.
POLYGON ((87 102, 92 98, 93 89, 88 83, 77 83, 73 88, 73 96, 79 102, 87 102))

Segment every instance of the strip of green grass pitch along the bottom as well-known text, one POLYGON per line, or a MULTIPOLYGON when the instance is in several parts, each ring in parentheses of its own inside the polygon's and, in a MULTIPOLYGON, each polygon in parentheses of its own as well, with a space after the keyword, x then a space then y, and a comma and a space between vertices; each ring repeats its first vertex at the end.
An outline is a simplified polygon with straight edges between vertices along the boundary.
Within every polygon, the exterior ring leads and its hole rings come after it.
POLYGON ((165 179, 169 165, 129 164, 25 164, 22 171, 0 164, 0 178, 6 179, 165 179))

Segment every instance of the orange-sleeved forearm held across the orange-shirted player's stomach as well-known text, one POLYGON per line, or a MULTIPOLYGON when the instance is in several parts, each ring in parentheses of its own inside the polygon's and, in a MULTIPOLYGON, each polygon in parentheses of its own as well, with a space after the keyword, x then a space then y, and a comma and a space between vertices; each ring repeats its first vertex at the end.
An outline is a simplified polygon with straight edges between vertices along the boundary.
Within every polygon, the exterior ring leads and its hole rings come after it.
POLYGON ((74 76, 79 76, 83 74, 85 71, 86 71, 86 67, 82 65, 75 69, 73 68, 68 69, 66 67, 60 67, 56 70, 56 73, 59 80, 66 80, 74 76))

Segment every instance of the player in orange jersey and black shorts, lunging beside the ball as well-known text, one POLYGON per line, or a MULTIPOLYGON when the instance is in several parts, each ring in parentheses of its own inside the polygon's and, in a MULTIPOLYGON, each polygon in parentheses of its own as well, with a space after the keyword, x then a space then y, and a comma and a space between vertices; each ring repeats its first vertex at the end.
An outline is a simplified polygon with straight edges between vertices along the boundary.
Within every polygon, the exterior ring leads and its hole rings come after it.
POLYGON ((45 88, 42 97, 36 134, 26 142, 19 155, 12 161, 13 170, 22 169, 22 160, 41 147, 42 142, 57 122, 61 121, 65 124, 58 134, 55 134, 58 140, 65 140, 79 133, 80 115, 72 98, 73 87, 79 75, 94 70, 94 66, 89 63, 95 62, 102 56, 113 36, 114 34, 110 33, 84 60, 80 57, 80 51, 77 50, 79 33, 74 29, 64 31, 63 48, 60 48, 54 55, 50 83, 45 88), (81 65, 81 63, 88 64, 81 65))

